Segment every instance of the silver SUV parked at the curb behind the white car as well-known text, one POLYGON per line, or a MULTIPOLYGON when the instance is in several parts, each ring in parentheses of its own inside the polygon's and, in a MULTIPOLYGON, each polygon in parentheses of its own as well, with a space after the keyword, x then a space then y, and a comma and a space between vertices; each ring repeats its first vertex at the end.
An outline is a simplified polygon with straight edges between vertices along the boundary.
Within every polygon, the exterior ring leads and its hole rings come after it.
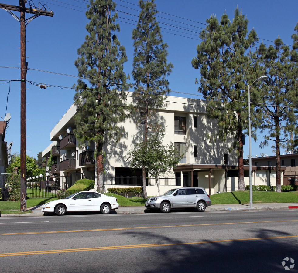
POLYGON ((145 207, 150 210, 169 212, 172 208, 197 208, 204 211, 211 205, 209 194, 203 188, 189 187, 168 190, 160 196, 150 197, 145 207))

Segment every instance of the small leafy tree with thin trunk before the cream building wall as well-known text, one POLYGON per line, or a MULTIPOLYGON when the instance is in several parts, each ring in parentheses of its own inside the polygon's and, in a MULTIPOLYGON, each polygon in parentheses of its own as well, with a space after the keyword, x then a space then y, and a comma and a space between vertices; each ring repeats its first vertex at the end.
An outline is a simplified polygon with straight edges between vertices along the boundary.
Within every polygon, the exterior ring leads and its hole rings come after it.
POLYGON ((132 168, 145 166, 147 172, 156 179, 159 195, 159 176, 169 173, 181 160, 173 142, 163 145, 164 137, 164 129, 154 131, 149 135, 147 142, 142 140, 135 146, 135 149, 129 150, 127 153, 127 159, 131 161, 132 168))

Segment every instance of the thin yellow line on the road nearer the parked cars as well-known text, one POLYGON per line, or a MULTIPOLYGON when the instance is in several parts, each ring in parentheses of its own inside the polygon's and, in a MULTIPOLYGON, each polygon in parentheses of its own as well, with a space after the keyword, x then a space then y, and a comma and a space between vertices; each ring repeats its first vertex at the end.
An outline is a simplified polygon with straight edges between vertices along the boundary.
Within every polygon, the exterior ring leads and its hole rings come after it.
POLYGON ((258 221, 258 222, 238 222, 238 223, 218 223, 218 224, 195 224, 195 225, 178 225, 178 226, 159 226, 159 227, 123 227, 123 228, 105 228, 105 229, 83 229, 83 230, 62 230, 62 231, 32 231, 18 233, 0 233, 0 235, 28 235, 28 234, 46 234, 46 233, 63 233, 63 232, 86 232, 86 231, 117 231, 141 228, 162 228, 162 227, 195 227, 195 226, 215 226, 215 225, 232 225, 232 224, 256 224, 256 223, 276 223, 276 222, 293 222, 298 220, 279 220, 279 221, 258 221))

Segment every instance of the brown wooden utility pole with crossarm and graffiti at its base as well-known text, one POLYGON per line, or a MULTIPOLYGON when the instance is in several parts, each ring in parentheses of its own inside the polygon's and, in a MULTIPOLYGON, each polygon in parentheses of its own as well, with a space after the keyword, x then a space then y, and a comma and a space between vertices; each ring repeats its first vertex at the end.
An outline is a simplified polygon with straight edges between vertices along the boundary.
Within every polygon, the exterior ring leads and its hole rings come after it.
POLYGON ((34 18, 40 15, 54 16, 52 11, 39 8, 25 8, 26 0, 19 0, 19 6, 6 5, 0 3, 0 8, 5 9, 21 24, 21 206, 22 212, 26 211, 26 25, 34 18), (12 11, 19 11, 20 17, 13 14, 12 11), (31 13, 33 16, 25 19, 25 13, 31 13))

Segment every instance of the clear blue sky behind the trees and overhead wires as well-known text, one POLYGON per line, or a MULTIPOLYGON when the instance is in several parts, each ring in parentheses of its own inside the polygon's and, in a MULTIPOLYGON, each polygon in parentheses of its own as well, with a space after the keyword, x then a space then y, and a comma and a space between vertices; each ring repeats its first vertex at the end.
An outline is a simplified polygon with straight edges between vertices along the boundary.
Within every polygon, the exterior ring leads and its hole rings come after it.
MULTIPOLYGON (((9 5, 19 5, 19 1, 3 1, 9 5)), ((29 3, 29 1, 27 1, 29 3)), ((33 1, 38 5, 38 1, 33 1)), ((26 150, 31 157, 43 151, 50 143, 50 131, 73 103, 74 89, 77 82, 77 49, 84 42, 87 31, 85 25, 86 1, 84 0, 46 0, 47 10, 54 12, 54 17, 39 16, 26 26, 26 61, 28 62, 27 80, 43 83, 51 87, 41 89, 27 83, 26 87, 26 150), (52 73, 50 73, 52 72, 52 73)), ((169 46, 168 61, 174 65, 169 76, 172 96, 201 99, 197 92, 195 79, 200 73, 191 66, 196 56, 196 47, 200 43, 199 32, 211 15, 218 18, 226 12, 230 20, 234 10, 242 10, 249 20, 248 29, 255 28, 259 42, 273 44, 278 36, 283 42, 292 45, 291 35, 298 21, 298 2, 280 1, 201 1, 201 0, 156 0, 159 13, 157 20, 162 28, 163 40, 169 46), (172 21, 171 21, 172 20, 172 21), (166 24, 162 24, 166 23, 166 24), (169 26, 169 24, 175 25, 169 26)), ((118 39, 125 46, 128 62, 126 74, 131 74, 133 60, 132 29, 135 27, 139 6, 137 0, 116 0, 118 23, 121 31, 118 39)), ((20 82, 5 80, 20 79, 20 23, 4 9, 0 9, 0 116, 10 112, 11 120, 6 130, 5 140, 13 141, 12 153, 20 152, 20 82), (14 68, 7 68, 14 67, 14 68)), ((18 12, 15 12, 19 16, 18 12)), ((26 14, 26 18, 29 14, 26 14)), ((271 145, 259 148, 263 140, 261 134, 256 143, 252 141, 252 156, 260 153, 274 155, 271 145)), ((248 137, 245 139, 244 158, 248 155, 248 137)), ((283 154, 284 151, 281 151, 283 154)))

